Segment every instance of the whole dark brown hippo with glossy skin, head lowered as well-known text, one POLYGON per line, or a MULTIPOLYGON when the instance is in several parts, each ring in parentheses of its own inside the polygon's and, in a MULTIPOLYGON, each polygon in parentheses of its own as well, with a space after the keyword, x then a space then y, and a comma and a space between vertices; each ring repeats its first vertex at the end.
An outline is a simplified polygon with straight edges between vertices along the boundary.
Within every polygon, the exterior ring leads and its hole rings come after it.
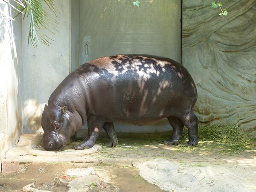
POLYGON ((187 145, 198 143, 197 100, 189 72, 169 58, 153 55, 114 55, 98 58, 70 73, 45 105, 41 125, 43 147, 61 150, 86 122, 88 135, 74 149, 93 147, 102 129, 108 147, 117 145, 113 122, 146 125, 168 118, 173 128, 166 145, 177 145, 184 125, 187 145))

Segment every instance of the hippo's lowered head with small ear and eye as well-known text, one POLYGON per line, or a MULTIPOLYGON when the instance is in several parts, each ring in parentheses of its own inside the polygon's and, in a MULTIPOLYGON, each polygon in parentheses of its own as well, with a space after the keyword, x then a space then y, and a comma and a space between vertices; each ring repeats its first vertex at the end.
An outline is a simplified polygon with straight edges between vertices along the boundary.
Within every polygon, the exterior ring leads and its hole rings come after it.
POLYGON ((67 106, 45 105, 41 125, 44 129, 42 145, 47 151, 60 151, 76 132, 75 115, 67 106))

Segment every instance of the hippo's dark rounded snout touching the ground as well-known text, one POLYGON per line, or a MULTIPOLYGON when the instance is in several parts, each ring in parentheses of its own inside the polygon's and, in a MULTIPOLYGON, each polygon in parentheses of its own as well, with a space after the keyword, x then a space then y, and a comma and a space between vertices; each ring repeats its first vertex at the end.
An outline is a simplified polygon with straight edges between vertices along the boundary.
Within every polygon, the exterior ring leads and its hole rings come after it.
POLYGON ((46 151, 61 151, 65 143, 61 139, 53 139, 52 137, 43 136, 42 145, 46 151))

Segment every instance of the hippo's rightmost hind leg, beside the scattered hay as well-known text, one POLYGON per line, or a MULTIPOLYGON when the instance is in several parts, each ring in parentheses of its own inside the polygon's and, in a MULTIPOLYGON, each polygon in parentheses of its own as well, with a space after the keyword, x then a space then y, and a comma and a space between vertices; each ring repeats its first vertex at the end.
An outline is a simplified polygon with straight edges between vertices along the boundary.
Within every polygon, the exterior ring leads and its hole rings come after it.
POLYGON ((196 146, 198 144, 198 118, 191 110, 186 113, 180 120, 188 128, 189 141, 185 145, 196 146))

